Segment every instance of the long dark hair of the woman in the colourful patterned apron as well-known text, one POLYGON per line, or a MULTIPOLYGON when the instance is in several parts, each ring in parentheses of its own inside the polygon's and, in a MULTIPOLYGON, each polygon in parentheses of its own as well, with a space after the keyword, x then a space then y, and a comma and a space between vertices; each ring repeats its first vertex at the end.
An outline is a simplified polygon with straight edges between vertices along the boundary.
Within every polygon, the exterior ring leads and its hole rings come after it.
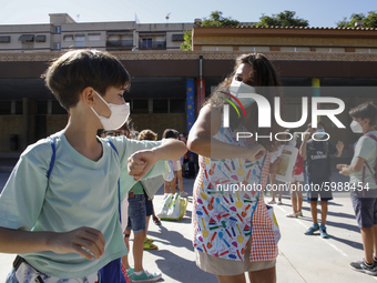
MULTIPOLYGON (((281 92, 278 90, 278 87, 281 85, 275 68, 272 65, 272 63, 268 61, 268 59, 261 54, 261 53, 249 53, 249 54, 243 54, 236 59, 233 72, 225 78, 224 81, 222 81, 215 92, 211 95, 210 100, 206 103, 211 103, 211 105, 214 105, 216 108, 222 108, 224 103, 226 103, 222 98, 225 98, 226 94, 224 94, 222 91, 228 90, 232 80, 241 64, 249 64, 252 67, 252 73, 253 73, 253 81, 254 81, 254 88, 256 93, 262 94, 264 98, 266 98, 269 102, 269 105, 273 108, 274 105, 274 97, 281 97, 281 92), (274 88, 271 88, 274 87, 274 88)), ((232 108, 231 108, 232 109, 232 108)), ((234 115, 231 115, 234 117, 234 115)), ((258 139, 258 143, 261 143, 264 148, 266 148, 268 151, 275 151, 277 148, 277 144, 274 140, 275 133, 283 130, 281 128, 274 118, 274 109, 271 110, 271 128, 258 128, 258 108, 256 103, 253 103, 249 108, 249 111, 247 111, 247 130, 252 132, 253 134, 255 132, 258 133, 258 135, 269 135, 272 132, 273 140, 269 141, 269 139, 263 138, 258 139)), ((233 121, 234 122, 234 121, 233 121)), ((240 123, 240 121, 236 121, 240 123)), ((232 124, 232 120, 231 120, 232 124)))

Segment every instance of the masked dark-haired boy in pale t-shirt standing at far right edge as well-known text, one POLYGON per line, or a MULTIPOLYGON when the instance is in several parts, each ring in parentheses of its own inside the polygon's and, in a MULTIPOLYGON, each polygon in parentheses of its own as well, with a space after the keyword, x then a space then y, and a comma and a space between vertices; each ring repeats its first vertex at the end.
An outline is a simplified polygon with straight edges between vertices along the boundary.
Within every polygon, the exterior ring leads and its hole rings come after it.
POLYGON ((361 230, 365 257, 351 262, 353 270, 377 275, 377 107, 363 103, 349 111, 354 133, 364 133, 358 140, 350 165, 338 164, 340 174, 349 175, 350 199, 357 224, 361 230))

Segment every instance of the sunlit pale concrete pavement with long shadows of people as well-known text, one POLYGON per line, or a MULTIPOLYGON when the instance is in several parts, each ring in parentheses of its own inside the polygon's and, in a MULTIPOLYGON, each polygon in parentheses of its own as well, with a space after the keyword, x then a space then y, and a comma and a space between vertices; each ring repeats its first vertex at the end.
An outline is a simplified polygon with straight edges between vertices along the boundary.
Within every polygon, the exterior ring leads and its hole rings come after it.
MULTIPOLYGON (((0 174, 0 188, 4 184, 6 176, 0 174)), ((334 179, 346 180, 336 174, 334 179)), ((163 221, 162 226, 155 225, 152 221, 150 223, 149 236, 155 240, 159 250, 144 252, 144 267, 149 271, 160 270, 163 273, 160 282, 217 282, 214 275, 201 271, 195 265, 191 242, 193 183, 194 180, 184 179, 184 190, 190 193, 190 202, 183 220, 163 221)), ((163 190, 160 190, 154 199, 155 211, 159 211, 162 198, 163 190)), ((271 198, 265 196, 265 200, 267 202, 271 198)), ((282 233, 276 265, 277 282, 377 282, 377 277, 355 272, 348 266, 350 261, 361 260, 364 253, 360 232, 347 193, 336 193, 335 200, 329 202, 327 231, 330 239, 327 240, 319 235, 304 235, 305 230, 312 224, 307 202, 304 201, 304 216, 300 219, 285 216, 292 210, 286 192, 283 195, 283 205, 274 205, 274 209, 282 233)), ((131 245, 132 239, 131 235, 131 245)), ((0 283, 4 282, 13 257, 14 255, 0 254, 0 283)), ((130 262, 133 262, 132 256, 130 262)))

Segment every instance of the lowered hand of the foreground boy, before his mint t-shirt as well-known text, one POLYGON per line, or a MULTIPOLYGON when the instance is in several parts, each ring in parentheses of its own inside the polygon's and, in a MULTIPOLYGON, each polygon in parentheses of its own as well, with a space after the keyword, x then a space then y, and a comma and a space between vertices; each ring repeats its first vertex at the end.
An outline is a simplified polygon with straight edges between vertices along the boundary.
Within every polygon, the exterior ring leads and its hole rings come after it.
POLYGON ((94 256, 99 260, 104 254, 105 242, 101 231, 83 226, 70 232, 53 233, 49 245, 54 253, 78 253, 93 261, 94 256), (84 249, 88 249, 94 256, 84 249))

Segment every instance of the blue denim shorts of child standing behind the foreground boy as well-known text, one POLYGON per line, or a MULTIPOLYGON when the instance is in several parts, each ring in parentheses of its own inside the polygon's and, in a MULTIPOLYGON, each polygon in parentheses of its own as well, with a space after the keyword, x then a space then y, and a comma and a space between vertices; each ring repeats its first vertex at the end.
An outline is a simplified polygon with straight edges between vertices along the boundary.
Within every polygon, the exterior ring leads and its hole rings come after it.
POLYGON ((125 230, 133 231, 134 234, 146 231, 146 208, 144 194, 129 196, 129 223, 125 230))

